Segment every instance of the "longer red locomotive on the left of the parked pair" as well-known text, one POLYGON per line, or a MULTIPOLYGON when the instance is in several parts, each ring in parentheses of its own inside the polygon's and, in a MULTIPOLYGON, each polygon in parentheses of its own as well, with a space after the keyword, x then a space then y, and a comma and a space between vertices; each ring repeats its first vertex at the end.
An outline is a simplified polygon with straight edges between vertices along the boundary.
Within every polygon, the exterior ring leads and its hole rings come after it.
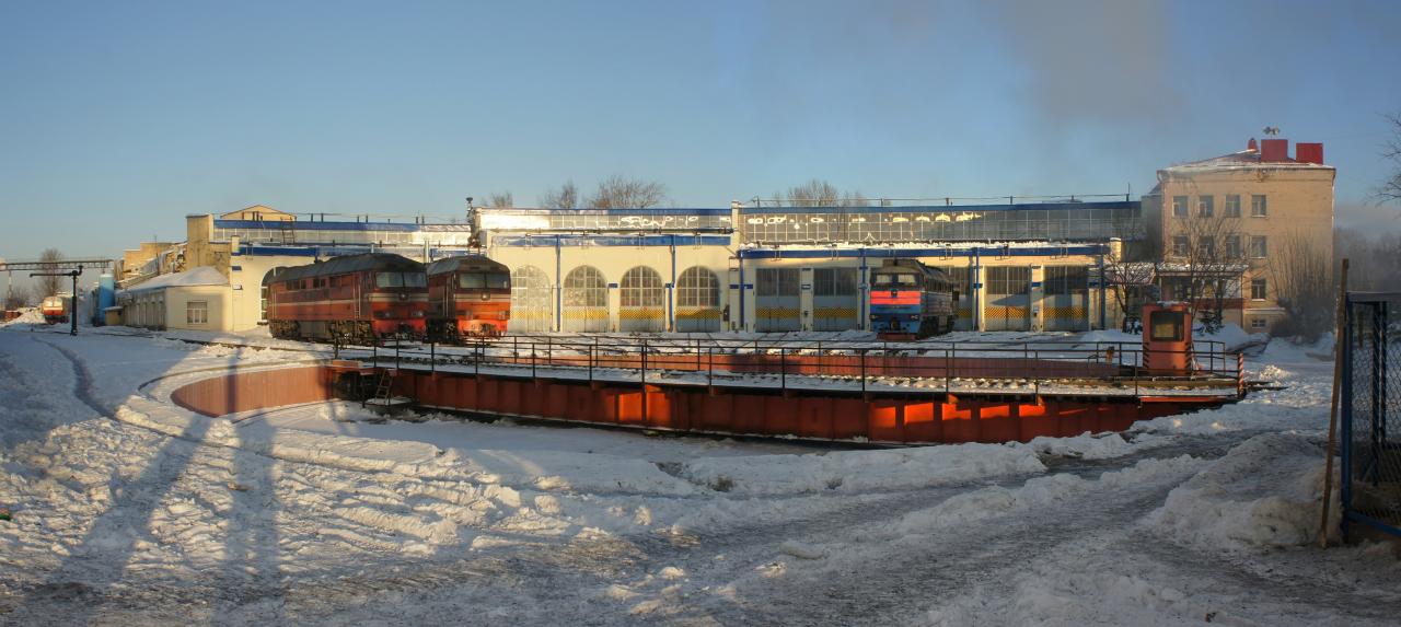
POLYGON ((426 334, 427 276, 422 263, 399 255, 350 255, 290 267, 268 287, 273 337, 371 343, 426 334))

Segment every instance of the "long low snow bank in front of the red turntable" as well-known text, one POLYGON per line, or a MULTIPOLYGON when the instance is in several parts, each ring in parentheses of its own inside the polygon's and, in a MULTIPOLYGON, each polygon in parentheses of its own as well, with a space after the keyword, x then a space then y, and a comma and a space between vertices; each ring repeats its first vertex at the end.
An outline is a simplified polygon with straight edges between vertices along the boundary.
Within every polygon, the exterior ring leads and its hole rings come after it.
POLYGON ((918 488, 1042 472, 1045 466, 1027 446, 961 444, 891 451, 834 451, 825 455, 696 459, 686 463, 679 476, 716 491, 758 495, 918 488))

